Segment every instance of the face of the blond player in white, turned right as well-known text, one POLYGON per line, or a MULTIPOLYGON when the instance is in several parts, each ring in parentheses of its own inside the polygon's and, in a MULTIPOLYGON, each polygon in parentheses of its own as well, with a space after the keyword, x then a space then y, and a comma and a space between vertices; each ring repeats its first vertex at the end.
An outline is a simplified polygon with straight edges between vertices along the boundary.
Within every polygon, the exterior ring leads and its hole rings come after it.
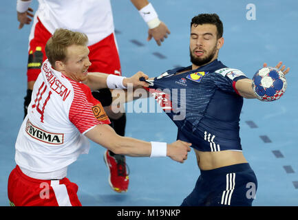
POLYGON ((71 45, 67 47, 66 59, 63 62, 63 74, 77 82, 86 80, 87 69, 91 65, 88 55, 89 49, 87 46, 71 45))

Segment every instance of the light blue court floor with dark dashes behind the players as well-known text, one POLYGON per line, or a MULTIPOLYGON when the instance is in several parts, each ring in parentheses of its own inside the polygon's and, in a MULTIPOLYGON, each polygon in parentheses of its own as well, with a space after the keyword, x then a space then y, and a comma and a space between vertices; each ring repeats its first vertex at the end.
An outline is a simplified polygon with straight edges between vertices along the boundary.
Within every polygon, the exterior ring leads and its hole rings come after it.
MULTIPOLYGON (((7 181, 15 166, 14 142, 23 120, 31 28, 18 30, 15 1, 4 3, 0 8, 0 206, 9 205, 7 181)), ((258 179, 253 206, 298 206, 298 1, 151 0, 171 31, 161 47, 146 41, 147 25, 129 0, 111 3, 124 76, 142 70, 153 77, 175 66, 190 65, 190 21, 203 12, 219 14, 224 23, 219 59, 228 67, 241 69, 250 78, 263 63, 275 66, 284 61, 291 68, 288 89, 280 100, 244 100, 240 137, 258 179)), ((36 6, 33 0, 32 8, 36 6)), ((174 142, 176 131, 164 113, 127 113, 129 137, 174 142)), ((169 158, 127 157, 129 190, 118 194, 109 187, 104 152, 105 148, 92 143, 89 155, 81 155, 69 167, 68 178, 78 184, 83 206, 179 206, 200 175, 194 151, 184 164, 169 158)))

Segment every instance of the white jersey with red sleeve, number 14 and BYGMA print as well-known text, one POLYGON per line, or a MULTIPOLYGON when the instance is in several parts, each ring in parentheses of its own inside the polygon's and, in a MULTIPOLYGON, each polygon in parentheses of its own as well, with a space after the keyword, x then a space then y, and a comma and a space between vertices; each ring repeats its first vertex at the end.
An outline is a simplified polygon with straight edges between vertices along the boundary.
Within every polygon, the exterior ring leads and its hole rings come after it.
POLYGON ((109 123, 89 87, 52 69, 46 60, 19 130, 15 160, 33 172, 60 170, 88 153, 87 131, 109 123))

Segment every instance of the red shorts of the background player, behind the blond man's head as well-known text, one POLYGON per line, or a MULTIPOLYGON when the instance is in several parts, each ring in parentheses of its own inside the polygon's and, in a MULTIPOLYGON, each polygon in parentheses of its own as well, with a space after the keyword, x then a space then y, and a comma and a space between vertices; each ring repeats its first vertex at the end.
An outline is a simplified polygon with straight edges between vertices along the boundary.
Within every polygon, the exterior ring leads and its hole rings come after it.
MULTIPOLYGON (((39 76, 41 64, 46 59, 45 44, 52 36, 39 20, 33 28, 34 36, 29 43, 28 52, 28 82, 35 81, 39 76)), ((88 72, 121 75, 120 58, 113 33, 88 48, 90 51, 89 60, 92 63, 88 72)))

